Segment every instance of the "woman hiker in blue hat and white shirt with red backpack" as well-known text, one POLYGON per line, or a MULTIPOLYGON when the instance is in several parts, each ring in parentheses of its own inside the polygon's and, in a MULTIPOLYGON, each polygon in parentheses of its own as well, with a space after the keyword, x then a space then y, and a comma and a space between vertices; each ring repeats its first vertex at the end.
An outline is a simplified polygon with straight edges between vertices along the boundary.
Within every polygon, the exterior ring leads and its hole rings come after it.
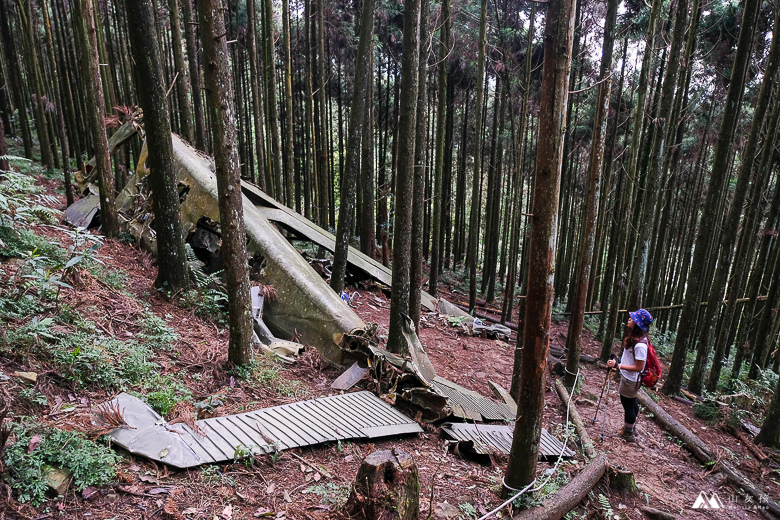
POLYGON ((645 309, 629 312, 626 334, 623 337, 623 354, 619 360, 610 359, 607 367, 617 366, 620 370, 620 404, 625 412, 625 423, 620 436, 628 442, 636 441, 636 417, 639 403, 636 394, 641 386, 639 374, 645 368, 647 360, 647 329, 653 323, 653 317, 645 309))

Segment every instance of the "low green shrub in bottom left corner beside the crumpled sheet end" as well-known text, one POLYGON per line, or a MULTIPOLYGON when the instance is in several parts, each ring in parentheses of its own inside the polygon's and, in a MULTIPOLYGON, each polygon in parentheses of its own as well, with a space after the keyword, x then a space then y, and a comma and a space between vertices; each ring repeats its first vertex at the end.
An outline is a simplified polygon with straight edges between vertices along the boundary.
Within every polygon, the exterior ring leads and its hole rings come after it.
POLYGON ((9 469, 6 479, 20 502, 43 503, 47 491, 45 475, 50 467, 69 472, 77 491, 114 479, 119 456, 81 433, 26 422, 18 424, 14 434, 16 442, 5 450, 3 460, 9 469), (33 435, 38 435, 41 443, 27 453, 33 435))

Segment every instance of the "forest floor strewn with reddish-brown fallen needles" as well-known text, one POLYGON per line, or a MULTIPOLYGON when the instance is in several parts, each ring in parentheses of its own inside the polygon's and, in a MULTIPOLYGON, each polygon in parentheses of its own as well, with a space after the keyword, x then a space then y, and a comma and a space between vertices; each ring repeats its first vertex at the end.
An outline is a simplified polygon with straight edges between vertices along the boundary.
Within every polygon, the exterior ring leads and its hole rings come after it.
MULTIPOLYGON (((40 176, 37 183, 58 197, 59 209, 64 207, 57 181, 40 176)), ((73 233, 60 225, 33 225, 31 229, 43 236, 45 242, 59 243, 66 249, 73 239, 73 233)), ((190 403, 217 396, 223 405, 214 410, 215 415, 336 393, 330 384, 340 372, 328 366, 313 348, 307 348, 292 365, 265 360, 250 374, 228 370, 225 366, 228 343, 225 326, 218 320, 204 319, 196 308, 187 308, 176 298, 168 298, 157 291, 154 287, 156 266, 148 253, 122 241, 106 240, 96 255, 103 263, 89 264, 89 268, 77 266, 66 280, 72 287, 62 288, 56 305, 39 307, 39 313, 34 316, 6 317, 7 322, 0 323, 3 329, 0 332, 0 395, 8 412, 6 423, 10 419, 16 422, 20 417, 31 416, 46 427, 72 430, 84 424, 92 406, 112 398, 125 386, 140 394, 150 394, 169 385, 173 388, 169 398, 173 396, 175 400, 190 403), (39 354, 39 347, 50 342, 46 334, 34 335, 23 347, 9 348, 12 337, 20 337, 21 330, 30 330, 31 320, 40 324, 41 320, 65 311, 70 318, 56 318, 48 330, 49 336, 58 341, 74 337, 85 323, 92 323, 92 334, 103 338, 167 344, 165 348, 154 350, 153 361, 157 363, 155 370, 159 376, 157 388, 153 388, 154 385, 83 384, 71 377, 76 374, 78 347, 68 371, 67 366, 63 368, 62 363, 58 364, 51 356, 39 354), (15 372, 34 372, 37 382, 30 386, 11 377, 15 372), (69 376, 65 377, 66 374, 69 376)), ((2 257, 0 260, 2 298, 14 290, 14 283, 19 283, 19 270, 24 267, 25 260, 2 257)), ((465 299, 451 289, 457 290, 455 286, 444 287, 445 298, 450 301, 465 299)), ((366 322, 378 323, 380 337, 386 334, 387 296, 363 292, 363 297, 356 302, 358 315, 366 322)), ((484 311, 491 312, 491 309, 484 311)), ((565 345, 567 325, 566 322, 553 323, 553 344, 565 345)), ((462 327, 452 326, 446 318, 436 314, 423 314, 420 328, 420 339, 439 375, 485 396, 491 395, 488 380, 509 387, 514 333, 509 343, 472 337, 462 327)), ((598 355, 600 343, 587 329, 582 345, 585 353, 598 355)), ((639 441, 629 444, 622 440, 618 436, 623 417, 617 384, 610 386, 602 405, 602 410, 606 407, 607 424, 602 425, 601 418, 594 424, 591 418, 604 377, 603 365, 583 364, 582 386, 574 402, 587 423, 596 450, 606 452, 610 464, 633 471, 639 493, 623 496, 612 492, 602 480, 580 504, 576 510, 578 516, 639 519, 643 516, 639 508, 649 505, 686 518, 761 517, 760 504, 734 488, 722 474, 702 467, 676 438, 666 434, 644 411, 638 420, 639 441), (729 510, 693 509, 701 491, 716 492, 729 504, 729 510)), ((731 459, 769 496, 780 497, 780 470, 776 461, 770 458, 769 462, 758 462, 727 432, 722 421, 708 425, 694 415, 689 405, 660 395, 658 402, 707 442, 719 457, 731 459)), ((544 424, 553 435, 563 439, 566 435, 566 428, 562 426, 565 410, 549 375, 545 403, 544 424)), ((448 452, 436 425, 424 425, 423 428, 424 433, 414 436, 317 445, 281 452, 278 457, 259 456, 249 462, 202 466, 186 471, 123 453, 117 479, 112 484, 88 487, 81 492, 71 486, 64 496, 49 498, 37 507, 29 502, 19 502, 18 492, 12 492, 10 486, 5 490, 0 488, 0 518, 228 520, 337 517, 338 506, 346 499, 361 461, 377 449, 390 448, 408 452, 416 462, 421 484, 420 518, 478 518, 502 502, 498 491, 506 460, 480 465, 460 459, 448 452)), ((12 435, 9 446, 14 440, 12 435)), ((543 492, 553 491, 586 464, 579 446, 572 442, 569 446, 577 452, 577 457, 558 467, 543 492)), ((68 446, 61 447, 61 450, 68 449, 68 446)), ((538 472, 552 467, 552 463, 540 462, 538 472)), ((13 472, 14 468, 6 468, 9 470, 13 472)), ((540 498, 537 494, 536 499, 540 498)), ((510 514, 511 510, 504 509, 497 516, 507 518, 510 514)))

